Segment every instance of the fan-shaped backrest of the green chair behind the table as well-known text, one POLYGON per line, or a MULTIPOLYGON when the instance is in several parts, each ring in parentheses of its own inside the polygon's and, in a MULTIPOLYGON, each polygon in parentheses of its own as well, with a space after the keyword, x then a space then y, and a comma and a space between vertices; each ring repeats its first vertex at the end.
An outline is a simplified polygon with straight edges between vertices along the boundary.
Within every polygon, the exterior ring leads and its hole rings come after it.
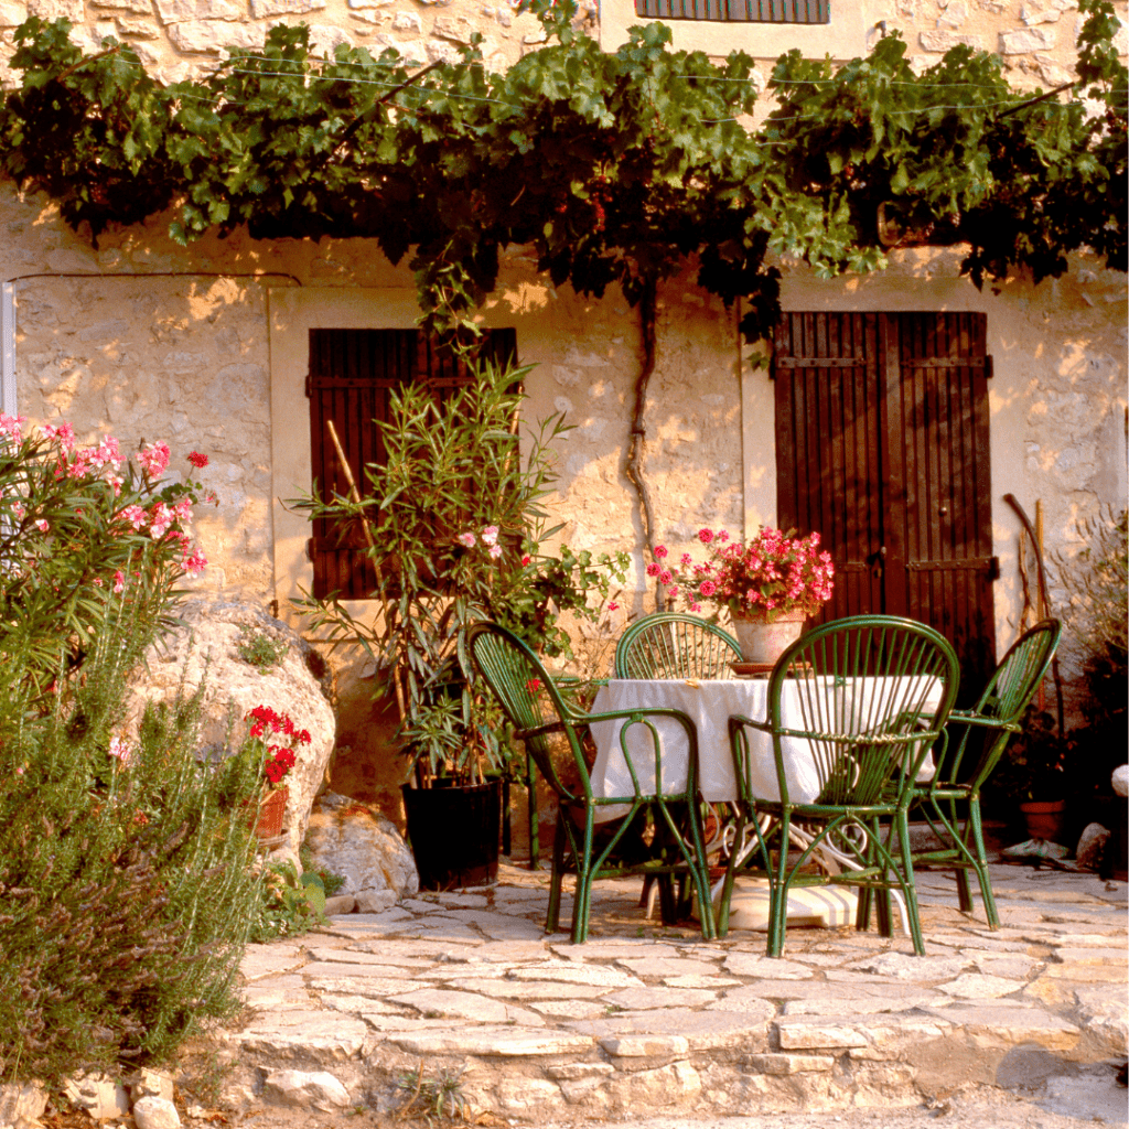
POLYGON ((683 612, 636 620, 615 645, 618 679, 732 679, 737 640, 719 627, 683 612))

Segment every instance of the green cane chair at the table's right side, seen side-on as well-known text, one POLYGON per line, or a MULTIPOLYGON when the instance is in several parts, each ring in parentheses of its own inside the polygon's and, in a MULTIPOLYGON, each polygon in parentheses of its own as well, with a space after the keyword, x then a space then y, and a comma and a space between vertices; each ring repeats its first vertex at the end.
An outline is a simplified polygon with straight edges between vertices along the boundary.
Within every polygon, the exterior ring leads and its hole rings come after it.
POLYGON ((936 850, 914 851, 913 866, 954 869, 960 905, 965 913, 972 912, 969 870, 974 870, 984 916, 992 929, 999 926, 999 914, 984 854, 980 791, 1004 755, 1012 734, 1019 732, 1024 710, 1043 681, 1061 637, 1062 624, 1058 620, 1042 620, 1015 641, 975 706, 970 710, 953 710, 949 715, 949 747, 933 780, 911 789, 911 803, 921 809, 940 844, 936 850), (953 730, 957 726, 963 727, 964 733, 953 744, 953 730), (970 753, 970 737, 977 730, 983 735, 983 742, 978 753, 970 753), (971 763, 965 763, 966 754, 971 763), (968 804, 963 825, 957 815, 959 803, 968 804))

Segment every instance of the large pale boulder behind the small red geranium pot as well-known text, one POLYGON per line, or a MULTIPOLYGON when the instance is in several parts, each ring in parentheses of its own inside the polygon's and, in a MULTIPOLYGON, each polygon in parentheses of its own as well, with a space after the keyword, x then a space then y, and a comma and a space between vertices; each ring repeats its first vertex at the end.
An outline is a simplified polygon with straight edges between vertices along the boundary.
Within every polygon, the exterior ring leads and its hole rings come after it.
POLYGON ((336 723, 325 663, 296 631, 245 598, 202 596, 185 601, 177 611, 181 625, 154 647, 148 671, 137 679, 131 714, 137 719, 147 699, 172 701, 182 690, 193 693, 205 680, 201 737, 208 750, 237 745, 247 733, 243 718, 256 706, 289 714, 299 729, 308 729, 310 743, 301 746, 286 781, 286 846, 297 859, 333 753, 336 723), (263 667, 245 662, 239 645, 248 637, 285 644, 281 660, 263 667))

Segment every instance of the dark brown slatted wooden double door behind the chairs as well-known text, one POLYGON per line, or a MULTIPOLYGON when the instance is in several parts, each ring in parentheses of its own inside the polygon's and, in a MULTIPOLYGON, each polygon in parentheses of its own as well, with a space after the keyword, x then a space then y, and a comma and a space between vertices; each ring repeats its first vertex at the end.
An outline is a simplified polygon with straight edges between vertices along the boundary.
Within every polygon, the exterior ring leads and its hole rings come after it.
POLYGON ((835 560, 820 620, 909 615, 995 667, 983 314, 786 314, 774 341, 777 509, 835 560))

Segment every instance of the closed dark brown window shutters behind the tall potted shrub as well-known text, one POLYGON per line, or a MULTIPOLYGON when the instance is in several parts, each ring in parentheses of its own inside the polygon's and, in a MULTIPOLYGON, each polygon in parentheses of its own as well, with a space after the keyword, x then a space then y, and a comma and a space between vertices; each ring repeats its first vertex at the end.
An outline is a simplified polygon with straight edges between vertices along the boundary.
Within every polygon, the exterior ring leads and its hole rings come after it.
MULTIPOLYGON (((480 353, 496 361, 516 361, 516 331, 488 331, 480 353)), ((361 497, 368 497, 365 466, 380 464, 385 457, 374 421, 387 420, 392 390, 418 379, 426 379, 436 399, 445 403, 471 376, 465 357, 418 330, 309 331, 309 445, 314 489, 321 497, 349 492, 326 421, 333 421, 353 480, 361 497)), ((359 522, 333 525, 327 518, 316 519, 309 558, 318 598, 335 592, 342 598, 365 599, 376 587, 359 522)))

